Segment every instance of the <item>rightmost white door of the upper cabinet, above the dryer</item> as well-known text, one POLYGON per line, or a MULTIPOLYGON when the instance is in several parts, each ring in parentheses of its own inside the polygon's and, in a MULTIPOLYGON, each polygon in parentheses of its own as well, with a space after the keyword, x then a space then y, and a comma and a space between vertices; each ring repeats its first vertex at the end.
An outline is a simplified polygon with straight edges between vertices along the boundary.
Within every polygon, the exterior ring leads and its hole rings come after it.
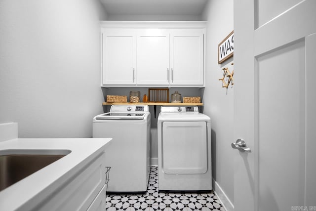
POLYGON ((170 84, 203 85, 204 30, 179 29, 170 34, 170 84))

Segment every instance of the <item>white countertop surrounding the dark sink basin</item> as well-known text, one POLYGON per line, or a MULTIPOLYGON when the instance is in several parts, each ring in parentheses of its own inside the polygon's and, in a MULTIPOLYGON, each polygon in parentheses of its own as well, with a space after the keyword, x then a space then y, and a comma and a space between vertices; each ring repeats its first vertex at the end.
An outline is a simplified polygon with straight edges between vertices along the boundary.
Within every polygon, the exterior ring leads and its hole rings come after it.
POLYGON ((70 150, 71 153, 0 191, 0 211, 14 211, 45 199, 93 155, 105 151, 111 138, 16 138, 0 142, 2 150, 70 150))

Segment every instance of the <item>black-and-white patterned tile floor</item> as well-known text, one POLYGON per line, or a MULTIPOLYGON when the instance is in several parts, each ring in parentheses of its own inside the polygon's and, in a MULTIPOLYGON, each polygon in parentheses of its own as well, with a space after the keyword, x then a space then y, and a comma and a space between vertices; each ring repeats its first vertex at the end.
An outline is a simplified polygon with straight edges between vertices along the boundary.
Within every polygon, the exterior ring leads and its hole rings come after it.
POLYGON ((158 193, 158 168, 152 167, 147 192, 142 195, 107 195, 106 211, 225 211, 210 193, 158 193))

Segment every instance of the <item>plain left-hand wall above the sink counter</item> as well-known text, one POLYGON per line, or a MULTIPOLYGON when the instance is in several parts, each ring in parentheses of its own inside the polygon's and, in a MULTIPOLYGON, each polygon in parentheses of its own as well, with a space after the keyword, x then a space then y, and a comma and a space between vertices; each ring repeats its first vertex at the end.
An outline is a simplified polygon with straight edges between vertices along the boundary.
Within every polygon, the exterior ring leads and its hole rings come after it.
POLYGON ((19 137, 92 137, 105 19, 99 0, 1 0, 0 123, 19 137))

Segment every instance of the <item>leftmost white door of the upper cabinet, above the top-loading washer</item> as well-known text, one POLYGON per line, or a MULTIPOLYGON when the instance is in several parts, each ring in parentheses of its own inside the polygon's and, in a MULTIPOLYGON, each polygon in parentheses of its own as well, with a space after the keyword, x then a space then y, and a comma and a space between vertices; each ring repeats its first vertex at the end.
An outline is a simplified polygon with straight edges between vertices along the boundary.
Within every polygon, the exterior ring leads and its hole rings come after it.
POLYGON ((103 29, 102 83, 135 84, 136 36, 128 29, 103 29))

